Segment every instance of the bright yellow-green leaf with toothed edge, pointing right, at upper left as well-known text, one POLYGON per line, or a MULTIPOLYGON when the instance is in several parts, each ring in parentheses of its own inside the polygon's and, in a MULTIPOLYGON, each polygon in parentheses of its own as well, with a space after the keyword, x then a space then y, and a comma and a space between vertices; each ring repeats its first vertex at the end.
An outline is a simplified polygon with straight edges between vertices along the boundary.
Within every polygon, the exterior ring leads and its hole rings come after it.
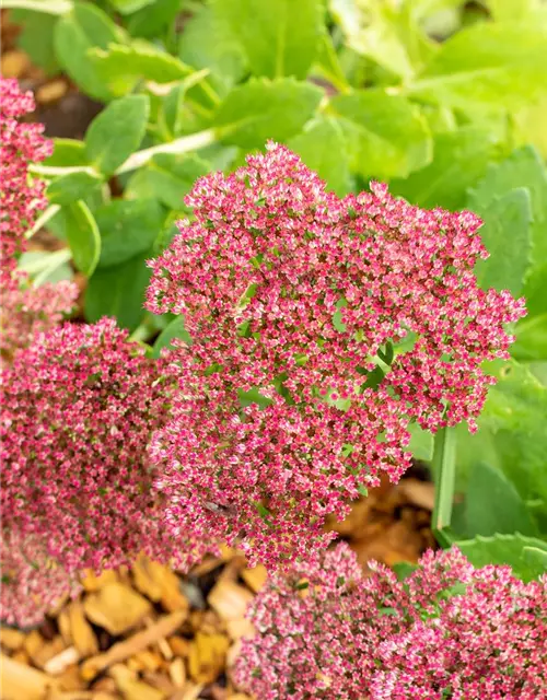
POLYGON ((141 80, 171 83, 194 72, 175 56, 139 39, 129 46, 109 44, 106 50, 94 48, 88 56, 97 74, 117 96, 125 95, 141 80))

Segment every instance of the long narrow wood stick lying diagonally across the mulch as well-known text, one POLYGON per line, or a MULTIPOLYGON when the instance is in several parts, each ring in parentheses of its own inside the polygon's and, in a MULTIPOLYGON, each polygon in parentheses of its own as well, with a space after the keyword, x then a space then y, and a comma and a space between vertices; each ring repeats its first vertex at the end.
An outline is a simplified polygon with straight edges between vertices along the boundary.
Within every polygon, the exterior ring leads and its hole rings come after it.
POLYGON ((106 653, 88 658, 82 665, 82 677, 86 680, 91 680, 98 673, 108 668, 108 666, 125 661, 137 652, 154 644, 158 640, 170 637, 181 627, 185 617, 186 612, 183 610, 166 615, 151 625, 148 629, 137 632, 123 642, 114 644, 114 646, 112 646, 106 653))

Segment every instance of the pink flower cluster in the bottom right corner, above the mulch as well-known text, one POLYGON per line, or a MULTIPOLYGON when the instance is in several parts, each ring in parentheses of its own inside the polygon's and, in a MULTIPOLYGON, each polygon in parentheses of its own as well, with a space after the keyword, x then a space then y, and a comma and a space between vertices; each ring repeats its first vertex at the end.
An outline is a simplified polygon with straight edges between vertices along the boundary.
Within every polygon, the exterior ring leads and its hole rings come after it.
POLYGON ((260 700, 536 700, 547 693, 547 578, 475 569, 457 550, 404 582, 346 545, 274 575, 249 619, 238 684, 260 700))

